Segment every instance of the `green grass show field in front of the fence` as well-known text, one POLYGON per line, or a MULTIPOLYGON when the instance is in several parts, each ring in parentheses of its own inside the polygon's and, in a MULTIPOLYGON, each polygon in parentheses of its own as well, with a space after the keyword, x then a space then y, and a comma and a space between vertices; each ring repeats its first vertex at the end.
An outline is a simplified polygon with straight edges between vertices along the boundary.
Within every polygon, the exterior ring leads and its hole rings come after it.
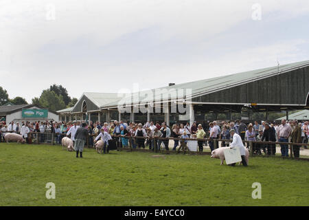
POLYGON ((0 206, 308 206, 309 163, 253 157, 220 166, 209 155, 164 155, 0 144, 0 206), (56 184, 56 199, 45 184, 56 184), (252 199, 253 182, 262 199, 252 199))

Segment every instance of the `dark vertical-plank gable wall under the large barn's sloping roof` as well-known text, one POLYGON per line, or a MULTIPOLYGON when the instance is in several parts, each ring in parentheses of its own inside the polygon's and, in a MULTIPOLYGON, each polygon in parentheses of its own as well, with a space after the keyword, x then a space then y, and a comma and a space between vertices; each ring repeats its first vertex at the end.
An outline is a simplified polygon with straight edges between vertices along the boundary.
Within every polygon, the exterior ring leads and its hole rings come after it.
POLYGON ((194 98, 194 102, 306 104, 309 67, 194 98))

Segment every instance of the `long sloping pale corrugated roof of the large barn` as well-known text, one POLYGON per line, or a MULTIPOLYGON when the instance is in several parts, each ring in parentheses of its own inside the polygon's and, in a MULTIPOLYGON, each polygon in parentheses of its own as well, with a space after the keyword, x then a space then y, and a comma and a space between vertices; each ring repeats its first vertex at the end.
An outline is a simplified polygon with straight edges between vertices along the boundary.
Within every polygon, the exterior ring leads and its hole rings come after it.
POLYGON ((181 83, 178 85, 172 85, 168 87, 159 88, 161 92, 156 93, 156 89, 150 89, 146 91, 139 91, 135 94, 131 94, 128 98, 119 98, 114 102, 108 102, 106 104, 100 105, 101 108, 107 107, 117 107, 119 100, 122 100, 125 104, 138 104, 146 102, 154 102, 156 99, 159 100, 174 100, 176 98, 185 98, 177 96, 176 93, 171 94, 171 89, 192 89, 192 98, 203 96, 205 94, 211 94, 222 89, 227 89, 230 87, 236 87, 244 83, 249 83, 255 80, 260 80, 262 78, 268 78, 275 76, 276 74, 284 74, 290 72, 294 69, 299 69, 301 67, 309 66, 309 61, 302 61, 297 63, 290 63, 286 65, 279 65, 278 67, 268 67, 263 69, 256 69, 248 72, 242 72, 238 74, 230 74, 226 76, 219 76, 216 78, 208 78, 205 80, 198 80, 190 83, 181 83), (165 90, 165 91, 164 91, 165 90), (148 94, 151 96, 148 96, 148 94), (152 95, 153 94, 153 95, 152 95), (135 97, 139 97, 136 98, 135 97), (133 100, 133 101, 132 101, 133 100), (137 101, 134 101, 137 100, 137 101))

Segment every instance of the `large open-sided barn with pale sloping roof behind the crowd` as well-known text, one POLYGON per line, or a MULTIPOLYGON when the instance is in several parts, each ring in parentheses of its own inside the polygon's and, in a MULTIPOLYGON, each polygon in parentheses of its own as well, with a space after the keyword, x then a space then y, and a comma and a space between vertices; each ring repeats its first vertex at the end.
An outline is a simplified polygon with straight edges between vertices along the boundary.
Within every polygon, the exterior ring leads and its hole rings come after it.
POLYGON ((209 119, 217 119, 218 115, 230 120, 251 119, 252 113, 260 112, 267 120, 273 112, 288 115, 288 111, 308 109, 308 94, 309 61, 302 61, 133 94, 84 93, 74 107, 58 113, 60 120, 88 117, 101 122, 159 120, 170 124, 202 121, 205 115, 209 119), (179 113, 179 105, 185 113, 179 113), (119 108, 124 106, 126 109, 119 108))

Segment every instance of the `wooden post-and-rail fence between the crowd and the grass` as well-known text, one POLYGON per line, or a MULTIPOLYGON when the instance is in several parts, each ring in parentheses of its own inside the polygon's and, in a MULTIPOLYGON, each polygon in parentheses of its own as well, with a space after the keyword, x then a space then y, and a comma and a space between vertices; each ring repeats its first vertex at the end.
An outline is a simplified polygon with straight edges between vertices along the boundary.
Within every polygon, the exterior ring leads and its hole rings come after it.
MULTIPOLYGON (((7 131, 5 133, 12 133, 12 131, 7 131)), ((2 133, 2 134, 5 134, 2 133)), ((30 140, 31 144, 61 144, 61 140, 62 137, 66 137, 65 134, 60 134, 57 135, 56 133, 51 133, 51 132, 30 132, 28 133, 28 140, 30 140)), ((89 143, 89 139, 92 137, 96 137, 94 135, 89 135, 87 138, 87 142, 85 143, 85 146, 87 148, 89 148, 89 146, 91 146, 91 144, 89 143)), ((155 142, 157 143, 158 140, 161 140, 162 142, 165 140, 179 140, 180 142, 183 141, 188 141, 188 140, 194 140, 194 141, 201 141, 201 142, 209 142, 209 141, 214 141, 214 148, 218 148, 219 146, 219 142, 232 142, 232 140, 226 140, 226 139, 212 139, 212 138, 203 138, 203 139, 199 139, 199 138, 181 138, 181 137, 132 137, 130 135, 126 135, 126 136, 122 136, 122 135, 114 135, 112 136, 114 139, 117 138, 119 140, 121 140, 119 137, 124 137, 128 139, 128 147, 124 147, 123 149, 126 149, 128 151, 140 151, 141 149, 139 148, 133 148, 133 145, 136 144, 136 141, 139 139, 144 139, 144 140, 155 140, 155 142)), ((276 144, 280 144, 280 145, 288 145, 290 148, 290 158, 295 158, 293 157, 293 147, 294 146, 309 146, 309 144, 305 144, 305 143, 293 143, 293 142, 262 142, 262 141, 247 141, 244 140, 244 143, 247 143, 247 146, 249 148, 249 154, 250 156, 253 156, 253 146, 255 144, 264 144, 266 146, 268 146, 269 144, 272 145, 276 145, 276 144)), ((159 142, 161 144, 161 142, 159 142)), ((255 145, 256 146, 256 145, 255 145)), ((93 147, 93 146, 91 146, 93 147)), ((179 148, 179 150, 177 152, 179 152, 181 149, 181 147, 179 148)), ((161 152, 163 153, 163 148, 160 146, 159 149, 155 148, 154 149, 155 152, 161 152), (156 151, 158 150, 158 151, 156 151)), ((149 151, 147 149, 144 149, 142 151, 149 151)), ((190 151, 187 147, 183 147, 182 148, 183 153, 196 153, 196 154, 209 154, 209 152, 192 152, 190 151)), ((309 160, 309 158, 300 158, 300 159, 307 159, 309 160)))

